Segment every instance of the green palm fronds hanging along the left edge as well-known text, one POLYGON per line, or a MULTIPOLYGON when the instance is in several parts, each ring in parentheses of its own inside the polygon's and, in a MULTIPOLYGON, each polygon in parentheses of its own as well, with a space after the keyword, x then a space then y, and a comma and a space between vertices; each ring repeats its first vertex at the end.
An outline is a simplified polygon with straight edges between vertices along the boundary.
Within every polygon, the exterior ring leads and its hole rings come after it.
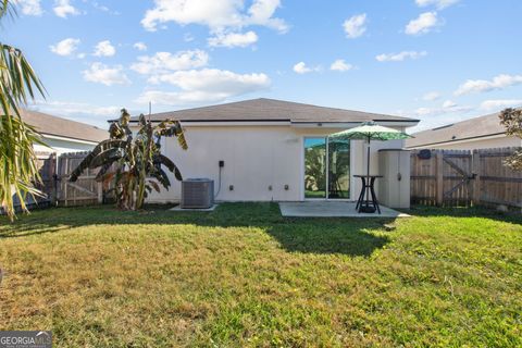
MULTIPOLYGON (((12 1, 0 1, 0 17, 15 13, 12 1)), ((37 132, 20 117, 20 105, 46 96, 45 88, 22 51, 0 42, 0 204, 13 220, 17 197, 27 211, 27 196, 41 195, 34 186, 40 181, 34 144, 41 144, 37 132)))

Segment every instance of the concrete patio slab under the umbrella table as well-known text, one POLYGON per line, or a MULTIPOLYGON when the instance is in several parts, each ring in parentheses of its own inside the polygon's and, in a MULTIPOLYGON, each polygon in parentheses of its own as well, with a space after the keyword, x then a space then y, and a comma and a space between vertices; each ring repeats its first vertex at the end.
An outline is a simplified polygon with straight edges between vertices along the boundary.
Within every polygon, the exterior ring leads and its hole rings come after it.
POLYGON ((410 215, 381 206, 381 214, 358 213, 356 202, 304 201, 281 202, 281 214, 287 217, 408 217, 410 215))

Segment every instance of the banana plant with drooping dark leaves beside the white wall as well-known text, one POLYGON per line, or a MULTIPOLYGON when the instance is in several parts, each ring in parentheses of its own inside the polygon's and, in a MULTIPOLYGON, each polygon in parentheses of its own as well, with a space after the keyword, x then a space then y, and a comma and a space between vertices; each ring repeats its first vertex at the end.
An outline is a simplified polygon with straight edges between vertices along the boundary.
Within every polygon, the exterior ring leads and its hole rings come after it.
POLYGON ((153 124, 139 115, 138 127, 133 133, 130 115, 122 109, 120 119, 109 128, 109 139, 95 149, 71 173, 70 181, 76 182, 86 169, 100 169, 96 179, 114 192, 116 204, 124 210, 139 210, 152 190, 160 192, 160 185, 169 190, 171 182, 164 169, 182 181, 182 173, 174 162, 161 153, 161 138, 176 137, 182 149, 187 141, 179 122, 164 120, 153 124), (111 185, 112 184, 112 185, 111 185))

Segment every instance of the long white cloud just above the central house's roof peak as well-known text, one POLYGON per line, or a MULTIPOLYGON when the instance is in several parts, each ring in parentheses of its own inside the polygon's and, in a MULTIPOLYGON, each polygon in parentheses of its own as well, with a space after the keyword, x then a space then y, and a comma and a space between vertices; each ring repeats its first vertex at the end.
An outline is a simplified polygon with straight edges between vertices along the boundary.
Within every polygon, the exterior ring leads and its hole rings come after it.
POLYGON ((249 92, 264 90, 271 80, 265 74, 236 74, 216 69, 175 72, 151 77, 152 83, 169 83, 179 91, 149 90, 136 102, 152 101, 165 105, 195 104, 223 101, 249 92))

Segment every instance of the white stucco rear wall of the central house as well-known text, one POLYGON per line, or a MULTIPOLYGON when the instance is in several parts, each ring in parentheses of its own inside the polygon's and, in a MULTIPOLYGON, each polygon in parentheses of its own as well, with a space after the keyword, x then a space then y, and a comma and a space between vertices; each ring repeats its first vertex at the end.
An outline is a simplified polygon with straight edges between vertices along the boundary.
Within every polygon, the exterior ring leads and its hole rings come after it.
MULTIPOLYGON (((183 151, 175 138, 164 138, 163 153, 171 158, 185 178, 208 177, 219 189, 219 161, 222 184, 217 201, 299 201, 304 198, 303 138, 326 136, 339 128, 294 126, 185 126, 188 150, 183 151), (231 190, 229 186, 234 189, 231 190), (288 185, 288 189, 285 189, 288 185), (272 186, 272 190, 269 189, 272 186)), ((377 151, 401 148, 402 140, 372 141, 372 172, 378 173, 377 151)), ((351 141, 351 174, 365 173, 365 146, 351 141)), ((181 183, 170 175, 169 191, 150 195, 149 202, 175 202, 181 199, 181 183)), ((351 179, 350 196, 357 199, 359 181, 351 179)), ((377 192, 378 194, 378 192, 377 192)))

